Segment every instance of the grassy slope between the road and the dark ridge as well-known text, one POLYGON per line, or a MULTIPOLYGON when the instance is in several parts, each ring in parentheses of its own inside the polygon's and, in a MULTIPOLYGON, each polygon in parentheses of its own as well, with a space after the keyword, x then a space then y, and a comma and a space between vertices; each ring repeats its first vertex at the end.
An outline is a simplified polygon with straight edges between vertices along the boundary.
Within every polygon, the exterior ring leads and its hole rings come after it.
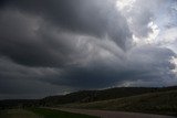
POLYGON ((177 90, 150 93, 87 104, 71 104, 65 107, 137 111, 177 116, 177 90))

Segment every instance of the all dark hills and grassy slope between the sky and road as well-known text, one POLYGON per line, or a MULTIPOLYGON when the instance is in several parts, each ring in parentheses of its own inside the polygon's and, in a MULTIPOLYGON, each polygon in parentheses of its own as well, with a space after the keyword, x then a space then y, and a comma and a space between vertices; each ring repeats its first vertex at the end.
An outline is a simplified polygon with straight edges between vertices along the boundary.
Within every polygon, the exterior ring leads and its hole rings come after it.
MULTIPOLYGON (((2 112, 7 109, 25 109, 37 115, 39 112, 45 115, 48 111, 53 110, 50 108, 96 109, 177 116, 176 99, 176 86, 158 88, 117 87, 103 90, 81 90, 66 95, 49 96, 42 99, 1 100, 0 109, 1 116, 4 115, 2 112)), ((23 112, 27 114, 24 110, 20 111, 20 114, 23 112)))

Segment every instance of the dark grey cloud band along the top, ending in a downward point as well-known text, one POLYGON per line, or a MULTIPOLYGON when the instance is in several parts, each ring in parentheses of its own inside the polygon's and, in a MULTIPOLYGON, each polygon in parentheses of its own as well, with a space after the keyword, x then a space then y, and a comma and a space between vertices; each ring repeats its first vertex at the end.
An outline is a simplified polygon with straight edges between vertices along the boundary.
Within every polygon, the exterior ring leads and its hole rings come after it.
POLYGON ((14 0, 8 3, 28 13, 41 15, 64 30, 100 37, 108 34, 123 49, 126 39, 131 36, 126 21, 117 12, 113 0, 14 0))

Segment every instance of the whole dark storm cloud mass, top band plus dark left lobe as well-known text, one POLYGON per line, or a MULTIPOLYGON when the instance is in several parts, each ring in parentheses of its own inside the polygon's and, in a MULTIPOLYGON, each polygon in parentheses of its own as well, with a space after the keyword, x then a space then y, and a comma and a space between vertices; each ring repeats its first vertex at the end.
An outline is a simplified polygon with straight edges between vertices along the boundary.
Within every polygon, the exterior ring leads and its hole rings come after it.
POLYGON ((14 0, 7 1, 7 3, 9 6, 4 6, 6 10, 1 11, 0 22, 2 25, 0 30, 1 39, 4 40, 1 40, 0 51, 20 64, 61 66, 74 50, 66 44, 72 42, 74 37, 64 42, 65 37, 62 35, 53 35, 55 28, 49 30, 48 24, 46 26, 38 24, 41 22, 38 19, 42 19, 44 23, 56 24, 60 30, 55 33, 65 31, 69 32, 67 35, 73 32, 91 34, 98 36, 98 39, 108 35, 124 50, 126 50, 127 40, 131 37, 125 19, 117 12, 113 1, 44 0, 39 2, 14 0))

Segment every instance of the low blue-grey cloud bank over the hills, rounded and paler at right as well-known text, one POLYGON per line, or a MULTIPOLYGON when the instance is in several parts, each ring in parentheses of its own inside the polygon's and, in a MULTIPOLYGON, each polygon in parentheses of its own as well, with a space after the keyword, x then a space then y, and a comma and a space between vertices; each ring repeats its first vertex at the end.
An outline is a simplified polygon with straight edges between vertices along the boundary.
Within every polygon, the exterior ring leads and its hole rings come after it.
POLYGON ((110 62, 108 65, 105 62, 92 62, 88 66, 64 68, 61 75, 45 81, 80 89, 119 86, 129 81, 134 82, 132 86, 174 85, 175 76, 171 74, 174 65, 169 62, 171 56, 176 54, 168 49, 138 47, 131 52, 127 61, 122 62, 124 66, 116 62, 110 62))

